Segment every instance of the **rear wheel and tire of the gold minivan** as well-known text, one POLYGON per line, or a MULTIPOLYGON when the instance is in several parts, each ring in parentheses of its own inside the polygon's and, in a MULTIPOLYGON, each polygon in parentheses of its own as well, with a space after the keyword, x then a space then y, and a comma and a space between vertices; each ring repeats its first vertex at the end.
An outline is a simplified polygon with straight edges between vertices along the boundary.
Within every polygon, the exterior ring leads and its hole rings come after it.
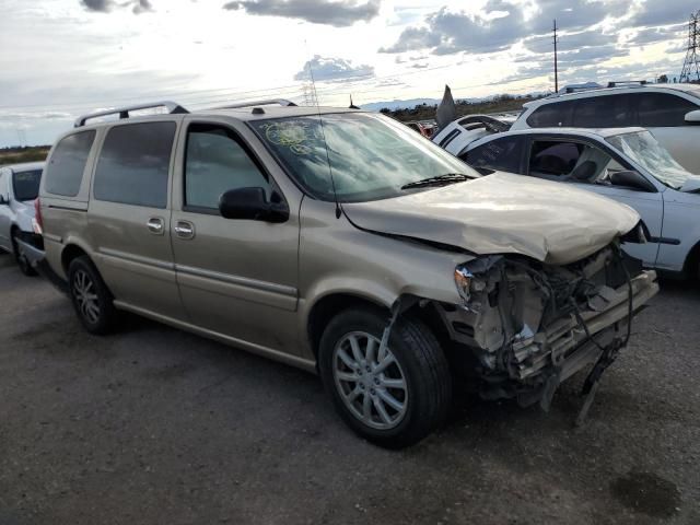
POLYGON ((70 262, 68 285, 73 308, 89 332, 105 335, 117 327, 119 312, 114 307, 112 292, 88 256, 70 262))

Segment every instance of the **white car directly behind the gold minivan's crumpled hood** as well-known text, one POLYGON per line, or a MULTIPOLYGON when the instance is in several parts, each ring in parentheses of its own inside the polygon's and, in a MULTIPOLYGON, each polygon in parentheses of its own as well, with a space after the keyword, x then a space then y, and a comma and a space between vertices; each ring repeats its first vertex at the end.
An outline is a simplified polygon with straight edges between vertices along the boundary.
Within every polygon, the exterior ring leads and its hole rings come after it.
POLYGON ((482 173, 558 180, 626 203, 649 230, 646 244, 626 245, 630 255, 650 268, 700 276, 700 176, 643 128, 508 131, 472 141, 458 156, 482 173))

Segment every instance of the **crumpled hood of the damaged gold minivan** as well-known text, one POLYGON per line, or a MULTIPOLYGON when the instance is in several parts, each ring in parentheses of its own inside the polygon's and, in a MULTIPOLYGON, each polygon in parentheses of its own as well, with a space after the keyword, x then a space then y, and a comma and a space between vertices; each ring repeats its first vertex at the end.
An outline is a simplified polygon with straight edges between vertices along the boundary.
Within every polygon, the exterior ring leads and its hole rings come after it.
POLYGON ((580 260, 631 231, 639 214, 561 183, 497 172, 394 199, 342 205, 359 228, 457 246, 477 255, 580 260))

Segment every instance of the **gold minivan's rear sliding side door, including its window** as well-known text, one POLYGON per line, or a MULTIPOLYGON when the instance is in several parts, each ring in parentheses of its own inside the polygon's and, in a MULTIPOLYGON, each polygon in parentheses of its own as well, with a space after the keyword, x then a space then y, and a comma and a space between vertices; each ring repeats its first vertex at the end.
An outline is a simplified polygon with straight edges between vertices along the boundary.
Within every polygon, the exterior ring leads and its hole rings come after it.
POLYGON ((115 299, 147 314, 186 320, 170 237, 170 167, 177 124, 112 127, 88 213, 95 264, 115 299))

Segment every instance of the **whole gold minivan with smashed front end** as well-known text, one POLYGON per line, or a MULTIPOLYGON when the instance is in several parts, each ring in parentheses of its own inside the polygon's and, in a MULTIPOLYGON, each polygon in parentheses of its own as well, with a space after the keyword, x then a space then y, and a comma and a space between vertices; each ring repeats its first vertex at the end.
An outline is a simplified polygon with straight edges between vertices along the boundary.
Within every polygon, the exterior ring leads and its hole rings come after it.
POLYGON ((588 368, 595 392, 658 290, 620 248, 644 241, 630 208, 481 176, 383 115, 162 105, 49 154, 45 262, 82 324, 127 311, 317 372, 374 443, 428 435, 456 382, 548 408, 588 368))

